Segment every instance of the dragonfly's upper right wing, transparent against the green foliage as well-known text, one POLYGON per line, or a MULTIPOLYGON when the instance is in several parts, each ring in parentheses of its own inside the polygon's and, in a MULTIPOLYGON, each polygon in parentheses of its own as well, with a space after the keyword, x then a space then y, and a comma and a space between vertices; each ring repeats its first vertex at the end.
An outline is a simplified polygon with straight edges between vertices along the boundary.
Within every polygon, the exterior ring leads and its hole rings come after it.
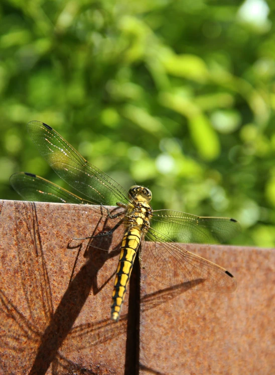
POLYGON ((221 243, 239 231, 240 225, 235 219, 200 217, 172 210, 154 211, 151 219, 153 235, 168 242, 221 243))

